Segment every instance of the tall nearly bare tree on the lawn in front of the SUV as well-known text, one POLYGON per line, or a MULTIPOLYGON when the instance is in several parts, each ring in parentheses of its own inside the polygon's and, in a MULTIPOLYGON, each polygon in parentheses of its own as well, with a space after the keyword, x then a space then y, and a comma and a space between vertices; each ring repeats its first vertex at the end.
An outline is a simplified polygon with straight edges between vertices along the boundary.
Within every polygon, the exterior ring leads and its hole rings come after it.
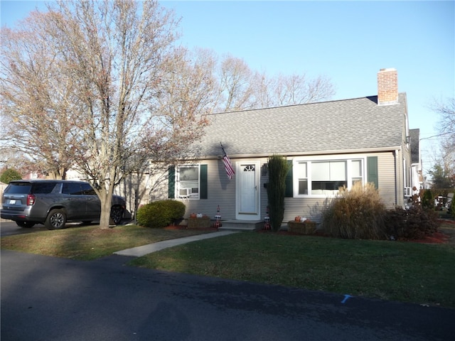
MULTIPOLYGON (((205 120, 196 107, 186 110, 195 105, 193 99, 180 111, 164 101, 174 90, 172 77, 181 62, 181 52, 173 48, 176 26, 173 13, 149 0, 59 0, 28 23, 31 39, 41 41, 48 55, 54 53, 53 75, 71 81, 70 98, 56 99, 69 127, 61 142, 66 159, 85 173, 100 197, 102 228, 109 226, 112 193, 122 178, 149 159, 175 158, 202 134, 205 120)), ((24 85, 18 89, 26 90, 24 85)), ((30 123, 27 105, 24 100, 14 107, 30 123)), ((46 103, 43 107, 45 113, 35 119, 48 120, 52 110, 46 103)), ((50 141, 52 136, 41 138, 50 141)), ((50 147, 52 153, 57 148, 50 147)))

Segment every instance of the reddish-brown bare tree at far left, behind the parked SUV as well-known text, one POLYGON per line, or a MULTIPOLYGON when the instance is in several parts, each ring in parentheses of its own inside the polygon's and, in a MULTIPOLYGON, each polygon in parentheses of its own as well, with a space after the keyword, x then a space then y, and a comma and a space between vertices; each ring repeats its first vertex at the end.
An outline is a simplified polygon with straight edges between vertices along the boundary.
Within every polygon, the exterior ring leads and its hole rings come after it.
MULTIPOLYGON (((33 13, 26 24, 35 26, 38 18, 33 13)), ((22 155, 15 162, 21 168, 65 178, 71 166, 68 110, 77 102, 73 81, 55 72, 55 52, 40 33, 1 31, 2 149, 22 155)))

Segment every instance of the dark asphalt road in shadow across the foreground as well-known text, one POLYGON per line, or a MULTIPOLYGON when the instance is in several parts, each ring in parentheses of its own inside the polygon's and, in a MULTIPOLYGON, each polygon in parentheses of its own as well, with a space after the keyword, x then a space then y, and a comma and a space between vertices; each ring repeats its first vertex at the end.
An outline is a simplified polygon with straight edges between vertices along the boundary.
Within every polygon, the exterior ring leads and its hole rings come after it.
POLYGON ((453 340, 455 310, 1 250, 1 340, 453 340))

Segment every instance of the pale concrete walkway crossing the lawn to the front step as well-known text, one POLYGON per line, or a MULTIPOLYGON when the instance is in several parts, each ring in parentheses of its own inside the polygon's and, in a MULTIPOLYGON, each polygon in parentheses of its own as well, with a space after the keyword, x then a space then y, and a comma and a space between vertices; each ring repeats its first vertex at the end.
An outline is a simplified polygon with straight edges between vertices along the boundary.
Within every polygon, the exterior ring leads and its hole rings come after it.
POLYGON ((228 234, 232 234, 232 233, 238 233, 238 232, 222 231, 222 232, 197 234, 195 236, 190 236, 190 237, 164 240, 163 242, 157 242, 154 244, 143 245, 141 247, 133 247, 132 249, 126 249, 126 250, 114 252, 114 254, 118 254, 119 256, 141 257, 141 256, 145 256, 146 254, 151 254, 152 252, 160 251, 162 249, 167 249, 168 247, 176 247, 177 245, 186 244, 186 243, 190 243, 190 242, 196 242, 196 241, 202 240, 202 239, 227 236, 228 234))

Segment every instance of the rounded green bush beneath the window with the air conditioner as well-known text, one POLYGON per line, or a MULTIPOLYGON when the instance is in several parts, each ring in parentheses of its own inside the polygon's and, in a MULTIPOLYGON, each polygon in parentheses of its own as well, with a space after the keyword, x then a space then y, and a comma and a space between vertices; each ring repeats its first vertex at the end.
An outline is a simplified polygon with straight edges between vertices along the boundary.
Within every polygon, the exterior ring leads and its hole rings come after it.
POLYGON ((150 202, 137 210, 137 223, 144 227, 162 228, 181 219, 185 214, 185 204, 176 200, 150 202))

